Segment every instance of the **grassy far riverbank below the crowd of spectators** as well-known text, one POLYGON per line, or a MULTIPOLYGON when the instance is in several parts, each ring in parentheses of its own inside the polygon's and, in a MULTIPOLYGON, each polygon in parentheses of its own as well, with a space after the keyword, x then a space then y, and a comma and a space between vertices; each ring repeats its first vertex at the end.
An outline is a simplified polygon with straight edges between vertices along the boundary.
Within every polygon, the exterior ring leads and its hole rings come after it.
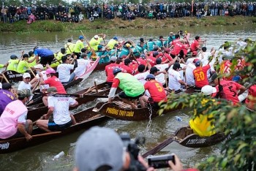
POLYGON ((82 23, 61 23, 54 20, 37 20, 32 24, 26 24, 26 21, 15 23, 0 23, 1 32, 40 32, 40 31, 95 31, 95 29, 142 29, 142 28, 175 28, 178 26, 236 26, 255 24, 255 17, 206 17, 206 18, 174 18, 167 20, 149 20, 137 18, 133 21, 121 20, 83 20, 82 23))

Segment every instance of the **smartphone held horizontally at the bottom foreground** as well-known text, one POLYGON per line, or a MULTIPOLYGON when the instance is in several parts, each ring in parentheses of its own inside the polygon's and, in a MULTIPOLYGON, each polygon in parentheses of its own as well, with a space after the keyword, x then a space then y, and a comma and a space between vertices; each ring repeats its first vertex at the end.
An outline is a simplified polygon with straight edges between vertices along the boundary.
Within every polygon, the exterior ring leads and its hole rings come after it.
POLYGON ((170 167, 168 161, 173 161, 173 164, 175 164, 173 153, 161 156, 148 156, 148 165, 154 167, 154 169, 170 167))

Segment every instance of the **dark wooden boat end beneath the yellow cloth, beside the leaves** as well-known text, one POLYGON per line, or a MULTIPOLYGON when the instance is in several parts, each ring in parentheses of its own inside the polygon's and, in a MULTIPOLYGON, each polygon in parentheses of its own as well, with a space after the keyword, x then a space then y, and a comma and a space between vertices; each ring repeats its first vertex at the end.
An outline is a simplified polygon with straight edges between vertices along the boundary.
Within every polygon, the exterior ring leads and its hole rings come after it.
POLYGON ((200 137, 198 134, 194 134, 192 129, 182 127, 178 129, 175 134, 175 141, 180 145, 189 148, 203 148, 211 145, 216 145, 219 142, 225 140, 227 136, 224 133, 217 133, 211 135, 211 137, 200 137))

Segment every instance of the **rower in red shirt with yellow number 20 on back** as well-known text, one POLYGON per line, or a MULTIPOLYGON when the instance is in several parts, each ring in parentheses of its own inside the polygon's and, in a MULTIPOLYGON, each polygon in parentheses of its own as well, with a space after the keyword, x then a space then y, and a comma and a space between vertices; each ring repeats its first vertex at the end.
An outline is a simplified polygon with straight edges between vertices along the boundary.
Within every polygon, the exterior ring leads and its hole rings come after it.
POLYGON ((196 68, 193 70, 193 75, 195 78, 195 89, 201 90, 203 86, 209 85, 207 78, 207 71, 211 68, 209 64, 202 66, 200 60, 195 62, 196 68))

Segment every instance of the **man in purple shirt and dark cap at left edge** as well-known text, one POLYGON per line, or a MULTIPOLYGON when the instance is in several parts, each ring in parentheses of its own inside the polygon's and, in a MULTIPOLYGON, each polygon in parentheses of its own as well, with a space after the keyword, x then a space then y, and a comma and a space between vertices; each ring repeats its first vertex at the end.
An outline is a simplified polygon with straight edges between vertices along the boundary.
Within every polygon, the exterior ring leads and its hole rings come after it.
POLYGON ((3 83, 3 85, 0 83, 0 116, 7 104, 15 100, 15 95, 12 94, 11 90, 12 85, 10 83, 3 83))

